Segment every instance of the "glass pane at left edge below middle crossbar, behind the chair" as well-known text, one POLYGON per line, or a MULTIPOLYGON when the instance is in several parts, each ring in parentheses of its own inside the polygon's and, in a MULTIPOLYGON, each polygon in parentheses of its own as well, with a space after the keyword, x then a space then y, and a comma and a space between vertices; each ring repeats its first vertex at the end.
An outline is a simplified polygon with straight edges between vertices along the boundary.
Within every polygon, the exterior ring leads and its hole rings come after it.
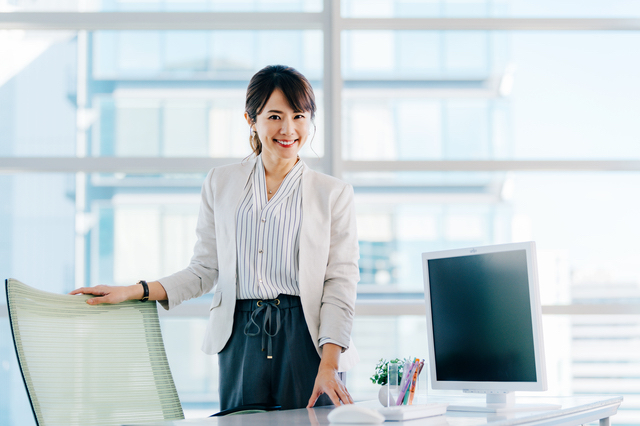
MULTIPOLYGON (((2 88, 0 87, 0 90, 2 88)), ((75 288, 75 176, 0 175, 0 273, 54 293, 75 288)), ((0 292, 0 425, 35 425, 0 292)))

